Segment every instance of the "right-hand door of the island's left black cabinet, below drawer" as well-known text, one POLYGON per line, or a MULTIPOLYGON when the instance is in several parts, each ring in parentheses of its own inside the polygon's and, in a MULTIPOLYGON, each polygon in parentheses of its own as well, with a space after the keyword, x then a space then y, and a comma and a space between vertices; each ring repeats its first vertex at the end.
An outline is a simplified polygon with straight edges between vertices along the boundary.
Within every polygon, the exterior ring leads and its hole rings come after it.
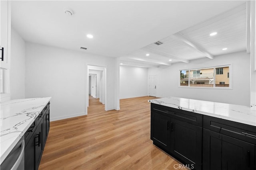
POLYGON ((171 154, 189 168, 202 167, 202 127, 171 119, 171 154))

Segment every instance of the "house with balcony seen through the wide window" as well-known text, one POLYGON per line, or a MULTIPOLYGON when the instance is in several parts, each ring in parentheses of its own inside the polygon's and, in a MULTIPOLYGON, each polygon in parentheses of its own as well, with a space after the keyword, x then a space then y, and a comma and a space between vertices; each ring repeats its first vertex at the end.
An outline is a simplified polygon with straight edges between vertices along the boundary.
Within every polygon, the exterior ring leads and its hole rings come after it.
POLYGON ((180 86, 230 87, 229 66, 180 70, 180 86))

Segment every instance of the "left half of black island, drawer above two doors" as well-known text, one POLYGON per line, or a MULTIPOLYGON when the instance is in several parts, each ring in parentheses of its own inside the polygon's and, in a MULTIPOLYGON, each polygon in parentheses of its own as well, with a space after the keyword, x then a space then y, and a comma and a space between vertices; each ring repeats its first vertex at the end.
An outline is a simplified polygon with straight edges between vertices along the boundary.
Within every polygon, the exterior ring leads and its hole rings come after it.
POLYGON ((188 168, 201 170, 202 115, 151 104, 151 140, 188 168))

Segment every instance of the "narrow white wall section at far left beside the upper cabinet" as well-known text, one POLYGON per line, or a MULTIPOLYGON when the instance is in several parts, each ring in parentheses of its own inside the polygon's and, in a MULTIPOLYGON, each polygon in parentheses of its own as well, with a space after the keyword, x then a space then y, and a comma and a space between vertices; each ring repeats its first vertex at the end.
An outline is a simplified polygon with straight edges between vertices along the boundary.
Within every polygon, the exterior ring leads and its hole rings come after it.
POLYGON ((25 41, 11 29, 10 94, 11 100, 25 98, 25 41))

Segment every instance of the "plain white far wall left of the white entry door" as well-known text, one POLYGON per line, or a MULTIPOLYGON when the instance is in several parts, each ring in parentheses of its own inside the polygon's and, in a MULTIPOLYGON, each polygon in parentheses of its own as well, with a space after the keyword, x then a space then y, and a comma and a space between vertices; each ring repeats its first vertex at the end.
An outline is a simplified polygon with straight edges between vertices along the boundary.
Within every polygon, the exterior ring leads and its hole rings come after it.
POLYGON ((148 96, 148 68, 120 66, 120 99, 148 96))

